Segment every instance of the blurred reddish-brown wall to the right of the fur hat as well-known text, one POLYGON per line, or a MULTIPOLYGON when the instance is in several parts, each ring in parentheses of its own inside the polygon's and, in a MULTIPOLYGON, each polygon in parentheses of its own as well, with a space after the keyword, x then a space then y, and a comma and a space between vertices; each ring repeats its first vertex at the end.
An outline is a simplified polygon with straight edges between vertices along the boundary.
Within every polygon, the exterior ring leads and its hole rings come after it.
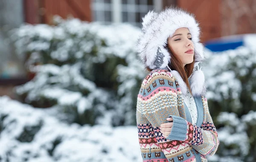
POLYGON ((256 0, 177 0, 195 14, 202 42, 221 36, 256 33, 256 0))

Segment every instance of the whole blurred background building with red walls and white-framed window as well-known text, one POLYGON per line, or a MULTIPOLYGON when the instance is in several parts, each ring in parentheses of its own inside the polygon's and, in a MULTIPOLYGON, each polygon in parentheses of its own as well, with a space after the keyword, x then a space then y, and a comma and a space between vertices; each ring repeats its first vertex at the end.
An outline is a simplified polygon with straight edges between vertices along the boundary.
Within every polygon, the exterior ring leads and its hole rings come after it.
POLYGON ((32 75, 26 58, 15 55, 7 32, 24 22, 52 24, 52 17, 76 17, 105 24, 127 22, 141 26, 149 10, 178 6, 195 14, 202 28, 202 42, 221 36, 256 33, 256 0, 0 0, 0 96, 32 75))

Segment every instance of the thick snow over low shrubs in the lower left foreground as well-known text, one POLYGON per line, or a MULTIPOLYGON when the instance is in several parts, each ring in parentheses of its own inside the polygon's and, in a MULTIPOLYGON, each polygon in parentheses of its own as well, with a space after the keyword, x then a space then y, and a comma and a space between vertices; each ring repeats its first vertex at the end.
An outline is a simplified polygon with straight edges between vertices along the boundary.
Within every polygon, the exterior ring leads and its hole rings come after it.
POLYGON ((0 97, 0 162, 141 162, 136 126, 68 125, 0 97))

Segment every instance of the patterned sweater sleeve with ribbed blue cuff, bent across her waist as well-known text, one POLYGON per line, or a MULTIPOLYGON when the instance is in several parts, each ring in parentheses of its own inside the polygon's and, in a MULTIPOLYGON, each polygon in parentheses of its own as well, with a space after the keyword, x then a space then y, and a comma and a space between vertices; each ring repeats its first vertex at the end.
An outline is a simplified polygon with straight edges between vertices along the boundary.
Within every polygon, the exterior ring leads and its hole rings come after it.
POLYGON ((186 121, 182 117, 169 115, 169 117, 173 117, 173 127, 167 139, 187 142, 200 154, 213 155, 219 145, 218 133, 209 114, 206 99, 203 104, 206 120, 204 120, 201 127, 186 121))

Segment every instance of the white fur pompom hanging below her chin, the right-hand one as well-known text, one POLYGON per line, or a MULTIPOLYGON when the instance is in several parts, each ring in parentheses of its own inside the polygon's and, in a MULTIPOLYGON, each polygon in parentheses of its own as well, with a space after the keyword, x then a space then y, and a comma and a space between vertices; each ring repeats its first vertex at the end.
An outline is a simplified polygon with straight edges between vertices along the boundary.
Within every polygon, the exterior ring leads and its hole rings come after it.
POLYGON ((189 77, 189 82, 190 82, 190 89, 194 97, 205 95, 205 92, 206 92, 205 79, 204 79, 204 73, 201 69, 196 70, 192 73, 192 75, 189 77))

